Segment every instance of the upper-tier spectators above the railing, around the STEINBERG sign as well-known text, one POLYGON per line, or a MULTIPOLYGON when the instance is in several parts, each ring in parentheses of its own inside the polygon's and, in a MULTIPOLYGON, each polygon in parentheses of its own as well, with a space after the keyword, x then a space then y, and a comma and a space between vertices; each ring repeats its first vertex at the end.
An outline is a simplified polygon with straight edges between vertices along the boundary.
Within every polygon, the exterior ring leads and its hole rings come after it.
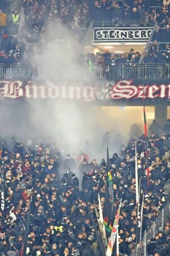
MULTIPOLYGON (((13 36, 8 35, 7 14, 5 1, 0 8, 0 26, 4 28, 3 39, 1 40, 0 63, 2 64, 31 64, 31 56, 35 51, 35 44, 42 46, 42 35, 46 31, 47 24, 54 24, 56 19, 74 31, 76 37, 77 28, 87 28, 91 20, 112 20, 113 22, 125 22, 127 20, 152 20, 158 23, 158 27, 153 35, 153 44, 150 46, 148 55, 143 59, 143 63, 169 63, 169 44, 162 44, 170 41, 170 16, 169 2, 162 0, 145 1, 109 1, 101 2, 81 2, 81 1, 23 1, 24 24, 18 36, 20 14, 14 10, 11 14, 10 29, 14 32, 13 36), (150 6, 152 6, 150 8, 150 6), (156 6, 156 7, 154 7, 156 6), (155 40, 155 41, 154 41, 155 40)), ((56 25, 57 26, 57 25, 56 25)), ((37 49, 37 47, 36 47, 37 49)), ((43 49, 41 49, 43 51, 43 49)), ((97 53, 96 56, 88 54, 86 63, 92 65, 101 64, 106 69, 108 66, 125 64, 134 66, 139 62, 140 53, 136 52, 122 54, 121 57, 111 53, 103 55, 97 53)), ((83 63, 83 60, 82 60, 83 63)))

